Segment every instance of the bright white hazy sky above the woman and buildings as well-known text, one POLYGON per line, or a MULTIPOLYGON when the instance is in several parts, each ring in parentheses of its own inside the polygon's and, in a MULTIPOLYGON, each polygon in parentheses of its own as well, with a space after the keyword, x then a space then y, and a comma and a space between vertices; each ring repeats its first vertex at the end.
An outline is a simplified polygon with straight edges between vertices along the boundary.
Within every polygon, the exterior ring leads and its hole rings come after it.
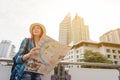
POLYGON ((0 0, 0 41, 10 40, 19 48, 30 37, 29 26, 39 22, 47 35, 59 37, 59 24, 70 13, 84 18, 90 39, 99 41, 104 33, 120 28, 120 0, 0 0))

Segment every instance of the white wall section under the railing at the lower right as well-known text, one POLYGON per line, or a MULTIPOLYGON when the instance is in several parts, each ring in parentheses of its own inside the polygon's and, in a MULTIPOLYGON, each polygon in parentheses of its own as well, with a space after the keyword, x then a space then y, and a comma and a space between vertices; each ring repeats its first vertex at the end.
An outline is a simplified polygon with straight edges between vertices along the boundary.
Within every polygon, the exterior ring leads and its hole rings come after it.
POLYGON ((71 68, 71 80, 119 80, 116 69, 71 68))

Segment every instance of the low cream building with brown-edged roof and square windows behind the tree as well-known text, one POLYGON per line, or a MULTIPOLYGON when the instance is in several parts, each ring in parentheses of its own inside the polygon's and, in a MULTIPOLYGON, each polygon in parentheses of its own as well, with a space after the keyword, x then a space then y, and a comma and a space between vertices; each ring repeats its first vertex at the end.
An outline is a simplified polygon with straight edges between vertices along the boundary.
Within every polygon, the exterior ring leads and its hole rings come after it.
MULTIPOLYGON (((81 41, 78 44, 75 44, 65 56, 64 61, 80 62, 80 60, 84 58, 85 50, 100 52, 101 54, 104 54, 109 60, 112 60, 114 64, 120 64, 120 44, 92 41, 81 41)), ((68 65, 67 67, 71 68, 74 66, 68 65)))

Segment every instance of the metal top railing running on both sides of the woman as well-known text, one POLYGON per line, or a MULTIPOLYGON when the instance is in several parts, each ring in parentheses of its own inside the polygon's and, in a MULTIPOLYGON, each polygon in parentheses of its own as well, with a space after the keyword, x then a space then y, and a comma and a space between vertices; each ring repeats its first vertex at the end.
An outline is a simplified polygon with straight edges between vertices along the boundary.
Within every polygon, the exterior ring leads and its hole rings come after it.
MULTIPOLYGON (((1 62, 13 63, 12 59, 0 59, 0 63, 1 62)), ((118 64, 90 63, 90 62, 59 62, 58 65, 60 65, 60 64, 62 64, 63 66, 64 65, 81 65, 81 66, 84 65, 84 66, 98 66, 98 67, 110 67, 110 68, 114 68, 114 69, 117 69, 119 71, 119 80, 120 80, 120 65, 118 65, 118 64)), ((60 79, 52 79, 51 78, 51 80, 60 80, 60 79)), ((62 80, 71 80, 71 79, 62 79, 62 80)))

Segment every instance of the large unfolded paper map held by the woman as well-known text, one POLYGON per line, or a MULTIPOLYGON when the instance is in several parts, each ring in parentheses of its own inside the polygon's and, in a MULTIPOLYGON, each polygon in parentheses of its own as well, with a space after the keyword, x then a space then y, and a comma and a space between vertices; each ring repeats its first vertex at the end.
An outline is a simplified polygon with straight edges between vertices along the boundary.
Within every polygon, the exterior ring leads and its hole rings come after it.
POLYGON ((30 58, 26 70, 48 74, 70 49, 70 46, 61 44, 49 36, 43 36, 39 44, 39 54, 30 58))

